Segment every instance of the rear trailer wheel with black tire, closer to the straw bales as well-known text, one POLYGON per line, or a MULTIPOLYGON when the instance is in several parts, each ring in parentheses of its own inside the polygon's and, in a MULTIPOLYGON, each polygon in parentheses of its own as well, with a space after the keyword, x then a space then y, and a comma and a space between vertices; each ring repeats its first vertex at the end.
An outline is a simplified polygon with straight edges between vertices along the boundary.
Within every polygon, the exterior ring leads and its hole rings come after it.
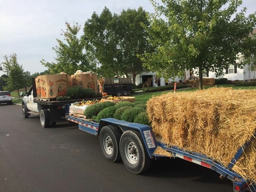
POLYGON ((135 174, 149 169, 152 159, 144 146, 141 135, 135 130, 127 130, 121 136, 120 153, 126 168, 135 174))

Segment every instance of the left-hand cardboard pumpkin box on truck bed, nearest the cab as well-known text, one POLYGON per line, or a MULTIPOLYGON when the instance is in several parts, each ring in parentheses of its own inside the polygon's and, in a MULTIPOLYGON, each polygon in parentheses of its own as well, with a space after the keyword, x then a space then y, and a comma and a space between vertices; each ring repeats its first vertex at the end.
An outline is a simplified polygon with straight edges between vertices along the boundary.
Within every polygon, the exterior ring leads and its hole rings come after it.
POLYGON ((68 75, 40 75, 36 79, 37 97, 54 98, 65 96, 68 90, 68 75))

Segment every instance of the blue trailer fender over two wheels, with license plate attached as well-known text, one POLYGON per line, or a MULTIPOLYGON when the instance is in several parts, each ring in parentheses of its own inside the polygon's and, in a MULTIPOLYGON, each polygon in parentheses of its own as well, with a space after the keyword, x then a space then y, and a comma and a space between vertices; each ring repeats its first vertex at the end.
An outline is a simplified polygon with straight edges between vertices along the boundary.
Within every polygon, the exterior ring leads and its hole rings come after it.
POLYGON ((100 135, 100 131, 102 127, 107 125, 116 126, 121 130, 122 133, 127 130, 137 130, 142 136, 142 139, 143 139, 145 148, 148 151, 149 157, 152 159, 154 158, 153 155, 151 154, 153 154, 156 149, 156 140, 151 127, 146 126, 144 124, 130 123, 130 122, 114 119, 114 118, 106 118, 106 119, 100 120, 97 136, 100 135))

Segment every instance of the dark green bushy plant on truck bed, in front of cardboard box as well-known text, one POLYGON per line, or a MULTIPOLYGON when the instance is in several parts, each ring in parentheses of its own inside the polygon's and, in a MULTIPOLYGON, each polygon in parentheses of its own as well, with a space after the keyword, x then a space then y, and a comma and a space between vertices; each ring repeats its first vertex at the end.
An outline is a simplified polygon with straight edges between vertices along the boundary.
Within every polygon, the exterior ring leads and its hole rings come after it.
POLYGON ((73 86, 67 90, 66 96, 71 97, 73 99, 80 99, 80 98, 95 98, 98 95, 95 93, 94 90, 92 90, 90 88, 83 88, 81 86, 73 86))

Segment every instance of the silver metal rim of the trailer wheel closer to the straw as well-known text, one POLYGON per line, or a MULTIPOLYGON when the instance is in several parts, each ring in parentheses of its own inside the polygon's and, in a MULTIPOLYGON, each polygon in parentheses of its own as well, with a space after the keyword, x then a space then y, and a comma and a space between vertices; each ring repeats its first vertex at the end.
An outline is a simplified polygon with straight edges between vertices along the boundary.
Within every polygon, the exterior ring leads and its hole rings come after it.
POLYGON ((130 164, 136 164, 139 159, 139 153, 133 141, 129 140, 124 145, 124 153, 130 164))

